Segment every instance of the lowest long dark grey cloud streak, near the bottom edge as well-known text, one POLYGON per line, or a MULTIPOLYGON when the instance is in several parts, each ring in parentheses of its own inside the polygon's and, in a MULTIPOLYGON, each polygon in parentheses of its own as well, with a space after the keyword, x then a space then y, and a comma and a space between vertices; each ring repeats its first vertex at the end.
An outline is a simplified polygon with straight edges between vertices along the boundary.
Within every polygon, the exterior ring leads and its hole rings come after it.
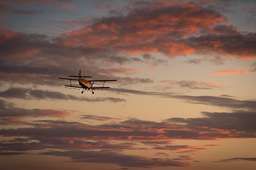
POLYGON ((72 159, 72 162, 110 163, 119 166, 154 168, 168 166, 189 166, 186 162, 178 162, 171 159, 147 158, 136 155, 124 155, 118 152, 109 151, 50 151, 42 152, 42 155, 64 156, 72 159))

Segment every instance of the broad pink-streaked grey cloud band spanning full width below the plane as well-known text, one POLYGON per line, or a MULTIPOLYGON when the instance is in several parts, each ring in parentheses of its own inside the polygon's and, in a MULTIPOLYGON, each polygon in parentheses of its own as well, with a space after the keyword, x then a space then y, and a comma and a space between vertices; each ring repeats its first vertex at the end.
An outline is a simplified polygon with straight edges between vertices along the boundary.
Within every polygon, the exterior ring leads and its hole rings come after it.
MULTIPOLYGON (((1 111, 1 118, 5 117, 58 117, 54 110, 24 110, 5 109, 1 111), (19 112, 18 112, 18 111, 19 112), (15 112, 16 111, 16 112, 15 112), (46 111, 47 114, 42 113, 46 111), (7 113, 8 112, 8 113, 7 113), (52 112, 51 114, 48 114, 52 112)), ((58 112, 57 112, 58 113, 58 112)), ((87 139, 94 141, 130 141, 140 142, 154 149, 181 150, 195 152, 203 147, 178 146, 170 143, 173 139, 214 140, 226 138, 255 138, 255 112, 239 111, 233 113, 203 112, 200 118, 170 118, 160 123, 128 119, 120 122, 107 123, 109 118, 101 119, 101 125, 86 125, 80 122, 68 121, 29 121, 30 126, 18 129, 1 129, 0 135, 13 137, 36 137, 39 139, 87 139), (242 120, 242 121, 241 121, 242 120), (105 121, 105 122, 104 122, 105 121), (219 122, 219 123, 216 123, 219 122), (189 149, 190 151, 188 151, 189 149)), ((95 118, 96 116, 89 116, 95 118)), ((96 117, 97 118, 97 117, 96 117)), ((100 118, 100 117, 99 117, 100 118)), ((16 121, 16 124, 20 123, 16 121)), ((212 145, 209 145, 212 146, 212 145)))

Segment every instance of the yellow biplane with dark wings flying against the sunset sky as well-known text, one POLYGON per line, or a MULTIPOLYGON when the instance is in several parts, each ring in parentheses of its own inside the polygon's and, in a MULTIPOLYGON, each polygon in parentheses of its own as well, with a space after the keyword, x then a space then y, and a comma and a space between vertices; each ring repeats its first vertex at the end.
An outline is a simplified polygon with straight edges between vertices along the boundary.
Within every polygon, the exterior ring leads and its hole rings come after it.
POLYGON ((82 89, 82 94, 87 90, 92 92, 94 94, 93 90, 103 90, 110 87, 104 87, 105 82, 111 82, 111 81, 117 81, 117 80, 86 80, 85 78, 92 78, 91 76, 82 76, 81 70, 79 70, 78 76, 69 76, 69 77, 75 77, 75 78, 59 78, 64 80, 70 80, 70 85, 65 85, 65 88, 74 88, 74 89, 82 89), (71 80, 78 81, 80 86, 73 86, 71 83, 71 80), (101 87, 94 87, 93 84, 95 82, 103 82, 103 85, 101 87))

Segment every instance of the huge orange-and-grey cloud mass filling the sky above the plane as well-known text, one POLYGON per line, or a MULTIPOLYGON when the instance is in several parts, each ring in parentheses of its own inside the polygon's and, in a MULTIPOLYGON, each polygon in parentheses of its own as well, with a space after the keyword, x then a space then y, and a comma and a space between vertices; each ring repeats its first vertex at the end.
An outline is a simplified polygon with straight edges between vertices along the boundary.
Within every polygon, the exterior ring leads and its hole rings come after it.
MULTIPOLYGON (((28 5, 19 3, 17 6, 28 5)), ((60 1, 39 1, 38 4, 59 5, 60 1)), ((54 77, 75 72, 70 65, 82 67, 99 78, 111 78, 117 73, 139 71, 118 67, 118 64, 141 62, 153 68, 167 64, 167 60, 153 56, 154 53, 163 53, 170 58, 211 53, 213 57, 185 62, 206 61, 217 65, 224 63, 224 57, 255 58, 254 33, 237 31, 216 10, 194 3, 158 3, 158 8, 155 8, 154 2, 142 4, 144 8, 138 7, 138 4, 136 8, 133 4, 134 9, 127 8, 129 11, 126 15, 91 20, 86 27, 54 37, 39 33, 18 33, 3 28, 1 24, 0 80, 14 83, 12 77, 16 77, 15 82, 18 84, 59 86, 61 83, 54 77), (131 57, 134 54, 141 58, 131 57)), ((4 9, 9 5, 5 4, 4 9)), ((31 2, 30 5, 35 4, 31 2)), ((120 77, 128 78, 132 79, 120 77)), ((138 83, 152 81, 146 78, 132 80, 138 83)))

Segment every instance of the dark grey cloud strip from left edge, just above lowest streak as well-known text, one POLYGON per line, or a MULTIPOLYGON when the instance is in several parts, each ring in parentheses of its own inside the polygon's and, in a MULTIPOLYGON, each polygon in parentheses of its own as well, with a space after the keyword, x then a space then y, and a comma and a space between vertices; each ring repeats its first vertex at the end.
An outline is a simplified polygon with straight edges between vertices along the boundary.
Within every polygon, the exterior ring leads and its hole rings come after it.
POLYGON ((29 151, 29 150, 45 150, 45 149, 61 149, 73 150, 81 149, 106 149, 106 150, 138 150, 136 143, 114 143, 109 141, 85 141, 74 139, 56 139, 52 137, 29 137, 23 141, 10 140, 0 142, 2 151, 29 151), (37 142, 34 142, 34 141, 37 142))

